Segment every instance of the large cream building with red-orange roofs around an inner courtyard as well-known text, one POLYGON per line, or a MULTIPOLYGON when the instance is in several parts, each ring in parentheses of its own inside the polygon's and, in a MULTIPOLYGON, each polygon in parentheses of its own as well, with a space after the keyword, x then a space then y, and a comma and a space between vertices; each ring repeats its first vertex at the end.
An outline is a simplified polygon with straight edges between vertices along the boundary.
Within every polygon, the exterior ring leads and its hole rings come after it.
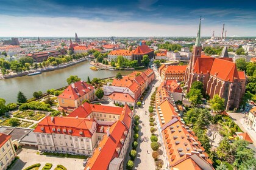
POLYGON ((132 110, 84 103, 67 117, 45 117, 34 130, 40 151, 90 156, 87 169, 122 169, 129 147, 132 110), (109 157, 108 157, 109 156, 109 157), (104 157, 98 160, 97 157, 104 157), (104 166, 100 165, 104 161, 104 166))

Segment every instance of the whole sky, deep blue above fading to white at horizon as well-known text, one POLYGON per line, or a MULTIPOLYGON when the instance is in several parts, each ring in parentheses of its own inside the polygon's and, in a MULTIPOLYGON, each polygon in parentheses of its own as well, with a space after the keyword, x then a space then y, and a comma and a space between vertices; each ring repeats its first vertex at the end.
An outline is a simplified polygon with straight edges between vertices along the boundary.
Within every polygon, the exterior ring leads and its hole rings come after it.
POLYGON ((0 0, 1 36, 256 36, 255 0, 0 0))

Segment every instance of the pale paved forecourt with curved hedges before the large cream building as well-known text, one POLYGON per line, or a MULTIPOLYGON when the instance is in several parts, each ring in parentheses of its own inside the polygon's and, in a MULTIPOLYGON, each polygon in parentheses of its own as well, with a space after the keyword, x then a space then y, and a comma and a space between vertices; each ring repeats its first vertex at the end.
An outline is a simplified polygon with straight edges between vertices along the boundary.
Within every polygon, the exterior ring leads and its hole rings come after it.
POLYGON ((84 169, 84 160, 82 159, 39 155, 37 154, 37 148, 32 146, 24 146, 17 152, 17 156, 20 157, 20 159, 16 161, 11 170, 21 170, 35 163, 41 163, 39 170, 43 169, 46 163, 52 163, 52 169, 57 165, 63 165, 66 169, 84 169))

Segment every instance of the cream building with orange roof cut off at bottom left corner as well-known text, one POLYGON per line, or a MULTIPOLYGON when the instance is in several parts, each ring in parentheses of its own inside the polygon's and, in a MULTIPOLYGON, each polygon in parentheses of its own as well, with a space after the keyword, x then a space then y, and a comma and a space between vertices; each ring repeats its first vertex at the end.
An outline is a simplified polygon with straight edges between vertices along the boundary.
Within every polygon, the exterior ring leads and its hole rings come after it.
POLYGON ((12 144, 12 137, 0 133, 0 169, 7 169, 16 155, 12 144))

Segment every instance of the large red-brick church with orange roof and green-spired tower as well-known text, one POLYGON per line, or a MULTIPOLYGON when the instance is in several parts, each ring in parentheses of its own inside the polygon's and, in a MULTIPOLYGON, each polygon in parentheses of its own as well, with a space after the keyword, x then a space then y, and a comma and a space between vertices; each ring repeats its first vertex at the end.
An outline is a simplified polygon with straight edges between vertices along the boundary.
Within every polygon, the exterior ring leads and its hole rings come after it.
POLYGON ((187 92, 194 81, 201 81, 205 93, 210 95, 210 98, 218 94, 225 99, 227 110, 238 108, 246 89, 245 73, 238 72, 236 64, 227 55, 227 47, 224 47, 222 55, 218 58, 201 54, 200 33, 201 19, 193 55, 185 72, 187 92))

